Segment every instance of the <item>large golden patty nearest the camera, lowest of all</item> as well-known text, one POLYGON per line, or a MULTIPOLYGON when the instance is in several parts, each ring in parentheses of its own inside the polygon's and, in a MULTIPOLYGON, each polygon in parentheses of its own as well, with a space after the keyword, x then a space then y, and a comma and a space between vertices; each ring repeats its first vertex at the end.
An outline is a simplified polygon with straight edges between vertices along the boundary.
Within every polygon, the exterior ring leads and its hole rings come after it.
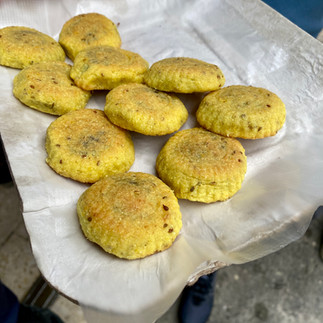
POLYGON ((182 227, 177 198, 157 177, 145 173, 108 176, 79 198, 84 235, 106 252, 137 259, 169 248, 182 227))

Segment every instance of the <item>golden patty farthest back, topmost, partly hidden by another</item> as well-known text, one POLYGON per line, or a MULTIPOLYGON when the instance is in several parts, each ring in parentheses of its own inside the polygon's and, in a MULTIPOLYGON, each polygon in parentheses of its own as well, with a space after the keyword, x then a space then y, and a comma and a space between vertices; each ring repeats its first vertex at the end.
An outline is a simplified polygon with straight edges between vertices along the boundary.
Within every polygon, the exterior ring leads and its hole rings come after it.
POLYGON ((59 43, 67 56, 74 60, 78 52, 91 46, 120 47, 121 39, 110 19, 99 13, 85 13, 72 17, 64 24, 59 43))

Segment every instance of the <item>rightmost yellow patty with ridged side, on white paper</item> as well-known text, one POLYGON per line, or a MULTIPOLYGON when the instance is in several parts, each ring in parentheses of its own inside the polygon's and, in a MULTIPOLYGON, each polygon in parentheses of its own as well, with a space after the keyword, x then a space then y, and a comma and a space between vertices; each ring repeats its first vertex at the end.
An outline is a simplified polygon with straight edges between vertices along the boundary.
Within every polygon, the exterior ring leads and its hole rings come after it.
POLYGON ((285 123, 285 104, 258 87, 233 85, 209 93, 197 112, 198 123, 228 137, 257 139, 274 136, 285 123))

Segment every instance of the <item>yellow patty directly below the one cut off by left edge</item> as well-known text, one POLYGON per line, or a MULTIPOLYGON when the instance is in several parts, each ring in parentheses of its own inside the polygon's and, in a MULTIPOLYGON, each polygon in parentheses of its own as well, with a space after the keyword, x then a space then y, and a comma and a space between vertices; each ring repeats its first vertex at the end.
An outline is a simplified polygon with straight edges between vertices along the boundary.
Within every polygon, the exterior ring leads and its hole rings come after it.
POLYGON ((13 81, 13 94, 28 107, 62 115, 84 108, 91 93, 77 87, 65 62, 41 62, 25 67, 13 81))

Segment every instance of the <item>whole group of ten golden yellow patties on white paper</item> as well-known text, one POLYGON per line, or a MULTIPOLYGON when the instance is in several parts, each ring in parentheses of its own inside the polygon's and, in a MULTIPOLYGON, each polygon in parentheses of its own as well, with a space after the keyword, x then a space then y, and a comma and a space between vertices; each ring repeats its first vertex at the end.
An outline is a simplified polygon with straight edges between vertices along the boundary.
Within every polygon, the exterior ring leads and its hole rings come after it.
POLYGON ((77 203, 82 231, 120 258, 143 258, 174 243, 182 227, 178 199, 231 198, 247 171, 237 138, 273 136, 285 123, 276 94, 224 87, 221 69, 196 58, 149 66, 121 49, 116 25, 98 13, 71 18, 58 42, 32 28, 2 28, 0 64, 21 69, 13 82, 18 100, 57 116, 46 133, 46 162, 58 175, 89 183, 77 203), (98 90, 107 91, 105 106, 87 109, 98 90), (200 127, 181 130, 188 111, 176 93, 204 94, 196 111, 200 127), (159 178, 129 171, 131 132, 171 135, 156 159, 159 178))

